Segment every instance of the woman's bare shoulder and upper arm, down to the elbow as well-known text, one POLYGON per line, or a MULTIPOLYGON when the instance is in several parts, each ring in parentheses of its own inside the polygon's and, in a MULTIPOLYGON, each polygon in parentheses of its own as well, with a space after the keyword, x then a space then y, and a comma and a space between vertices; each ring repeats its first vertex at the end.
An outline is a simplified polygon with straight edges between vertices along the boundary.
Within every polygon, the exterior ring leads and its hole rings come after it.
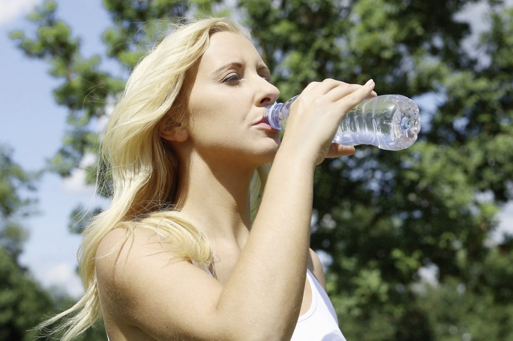
POLYGON ((96 252, 96 275, 102 313, 115 328, 154 338, 220 332, 214 312, 221 284, 169 252, 153 230, 110 231, 96 252))

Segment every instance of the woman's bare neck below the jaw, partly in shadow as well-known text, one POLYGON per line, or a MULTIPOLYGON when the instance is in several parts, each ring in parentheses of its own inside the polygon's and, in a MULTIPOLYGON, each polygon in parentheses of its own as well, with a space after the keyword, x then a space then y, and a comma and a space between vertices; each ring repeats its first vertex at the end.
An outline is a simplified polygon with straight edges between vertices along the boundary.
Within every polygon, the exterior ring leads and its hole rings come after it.
POLYGON ((180 158, 176 208, 191 217, 211 242, 244 246, 251 227, 249 183, 254 168, 180 158), (183 162, 182 162, 183 161, 183 162))

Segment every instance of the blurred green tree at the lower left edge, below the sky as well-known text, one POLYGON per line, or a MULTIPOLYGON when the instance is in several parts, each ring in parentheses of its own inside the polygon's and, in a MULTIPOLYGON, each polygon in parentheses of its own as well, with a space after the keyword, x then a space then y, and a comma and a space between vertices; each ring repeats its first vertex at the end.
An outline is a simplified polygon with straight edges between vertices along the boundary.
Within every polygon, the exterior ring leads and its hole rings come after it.
POLYGON ((34 189, 34 176, 11 153, 0 145, 0 339, 32 340, 35 332, 30 330, 53 306, 48 293, 17 262, 27 237, 19 219, 30 214, 34 202, 20 192, 34 189))

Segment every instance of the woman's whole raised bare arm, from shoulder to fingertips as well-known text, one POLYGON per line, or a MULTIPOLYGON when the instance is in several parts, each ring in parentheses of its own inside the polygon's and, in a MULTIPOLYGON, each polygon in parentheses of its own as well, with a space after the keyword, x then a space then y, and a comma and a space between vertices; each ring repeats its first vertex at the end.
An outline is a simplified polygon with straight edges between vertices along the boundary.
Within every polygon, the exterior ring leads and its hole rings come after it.
MULTIPOLYGON (((294 102, 249 239, 224 286, 138 231, 97 262, 102 309, 157 340, 290 339, 308 264, 313 171, 326 155, 351 154, 331 139, 343 113, 372 88, 326 80, 294 102)), ((98 254, 116 246, 116 233, 123 232, 112 231, 98 254)))

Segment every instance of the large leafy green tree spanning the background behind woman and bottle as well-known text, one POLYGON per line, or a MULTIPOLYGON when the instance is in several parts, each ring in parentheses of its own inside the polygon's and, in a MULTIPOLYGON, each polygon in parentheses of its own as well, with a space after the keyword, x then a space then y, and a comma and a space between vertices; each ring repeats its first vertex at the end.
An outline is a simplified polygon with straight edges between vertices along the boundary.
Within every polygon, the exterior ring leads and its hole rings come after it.
MULTIPOLYGON (((427 98, 436 107, 421 113, 421 136, 407 150, 359 146, 354 157, 327 160, 316 172, 311 242, 332 259, 328 289, 348 339, 511 337, 513 295, 501 278, 510 275, 511 239, 495 246, 486 239, 513 197, 513 9, 488 1, 490 28, 464 48, 471 32, 455 14, 474 3, 236 2, 282 100, 313 80, 373 78, 380 94, 427 98), (436 269, 433 287, 422 284, 425 267, 436 269), (493 332, 484 336, 485 329, 493 332)), ((207 0, 104 5, 113 19, 103 36, 107 57, 127 71, 160 38, 163 22, 153 19, 216 10, 207 0)), ((67 175, 94 153, 90 123, 124 79, 100 71, 100 56, 81 57, 80 39, 55 18, 53 3, 31 19, 37 35, 13 37, 63 80, 54 95, 69 109, 72 131, 53 165, 67 175)))

